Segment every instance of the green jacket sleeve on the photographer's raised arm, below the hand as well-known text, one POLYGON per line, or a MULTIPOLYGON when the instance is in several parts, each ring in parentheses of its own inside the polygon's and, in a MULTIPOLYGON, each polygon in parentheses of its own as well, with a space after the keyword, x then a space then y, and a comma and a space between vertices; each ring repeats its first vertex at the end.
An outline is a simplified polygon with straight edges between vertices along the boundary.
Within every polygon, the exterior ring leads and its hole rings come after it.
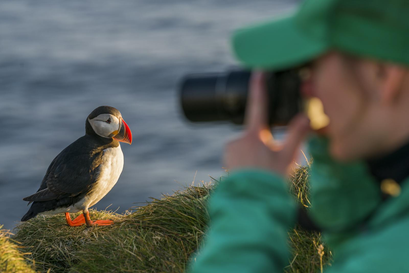
POLYGON ((283 272, 296 205, 285 179, 243 170, 222 181, 209 201, 210 229, 191 273, 283 272))

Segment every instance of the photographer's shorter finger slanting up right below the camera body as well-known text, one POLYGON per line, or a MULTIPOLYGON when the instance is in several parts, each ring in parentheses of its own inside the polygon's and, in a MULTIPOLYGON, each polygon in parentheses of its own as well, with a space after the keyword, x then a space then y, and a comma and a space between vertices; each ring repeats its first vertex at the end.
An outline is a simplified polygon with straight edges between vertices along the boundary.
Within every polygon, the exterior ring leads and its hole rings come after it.
POLYGON ((310 120, 308 120, 308 117, 304 114, 294 117, 290 122, 288 135, 280 152, 285 160, 292 160, 294 158, 299 145, 308 131, 310 131, 310 120))

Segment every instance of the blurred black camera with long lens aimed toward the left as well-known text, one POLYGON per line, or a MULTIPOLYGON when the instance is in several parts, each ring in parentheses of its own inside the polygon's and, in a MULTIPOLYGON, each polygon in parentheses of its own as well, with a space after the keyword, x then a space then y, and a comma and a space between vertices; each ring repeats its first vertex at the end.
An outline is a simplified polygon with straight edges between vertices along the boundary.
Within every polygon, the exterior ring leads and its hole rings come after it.
MULTIPOLYGON (((231 121, 243 124, 251 72, 190 74, 180 85, 184 115, 192 122, 231 121)), ((267 72, 265 85, 270 125, 287 125, 302 111, 299 69, 267 72)))

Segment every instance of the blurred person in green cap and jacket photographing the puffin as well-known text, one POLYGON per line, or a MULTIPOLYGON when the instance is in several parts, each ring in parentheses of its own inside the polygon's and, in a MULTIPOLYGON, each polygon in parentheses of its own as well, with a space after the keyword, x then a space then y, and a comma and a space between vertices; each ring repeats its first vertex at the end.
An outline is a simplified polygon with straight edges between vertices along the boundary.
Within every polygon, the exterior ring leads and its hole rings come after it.
POLYGON ((234 34, 254 70, 246 131, 226 145, 231 175, 209 201, 211 226, 191 273, 282 272, 297 221, 286 176, 308 141, 311 221, 333 250, 326 272, 408 272, 409 2, 306 0, 292 15, 234 34), (299 114, 278 145, 267 123, 264 71, 308 63, 305 97, 330 122, 299 114))

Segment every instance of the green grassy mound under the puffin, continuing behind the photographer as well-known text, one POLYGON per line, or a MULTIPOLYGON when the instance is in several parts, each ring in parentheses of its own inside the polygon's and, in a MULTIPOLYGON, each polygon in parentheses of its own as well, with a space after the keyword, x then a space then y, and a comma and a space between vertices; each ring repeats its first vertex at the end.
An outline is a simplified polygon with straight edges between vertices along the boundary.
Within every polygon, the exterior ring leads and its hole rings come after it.
MULTIPOLYGON (((298 168, 290 183, 292 194, 308 209, 308 166, 298 168)), ((28 257, 38 272, 183 272, 202 246, 214 187, 186 187, 126 215, 90 211, 92 219, 114 219, 112 226, 72 228, 63 214, 36 217, 21 223, 13 239, 32 253, 28 257)), ((319 233, 295 227, 288 234, 292 258, 284 272, 320 272, 321 263, 330 264, 319 233)))

